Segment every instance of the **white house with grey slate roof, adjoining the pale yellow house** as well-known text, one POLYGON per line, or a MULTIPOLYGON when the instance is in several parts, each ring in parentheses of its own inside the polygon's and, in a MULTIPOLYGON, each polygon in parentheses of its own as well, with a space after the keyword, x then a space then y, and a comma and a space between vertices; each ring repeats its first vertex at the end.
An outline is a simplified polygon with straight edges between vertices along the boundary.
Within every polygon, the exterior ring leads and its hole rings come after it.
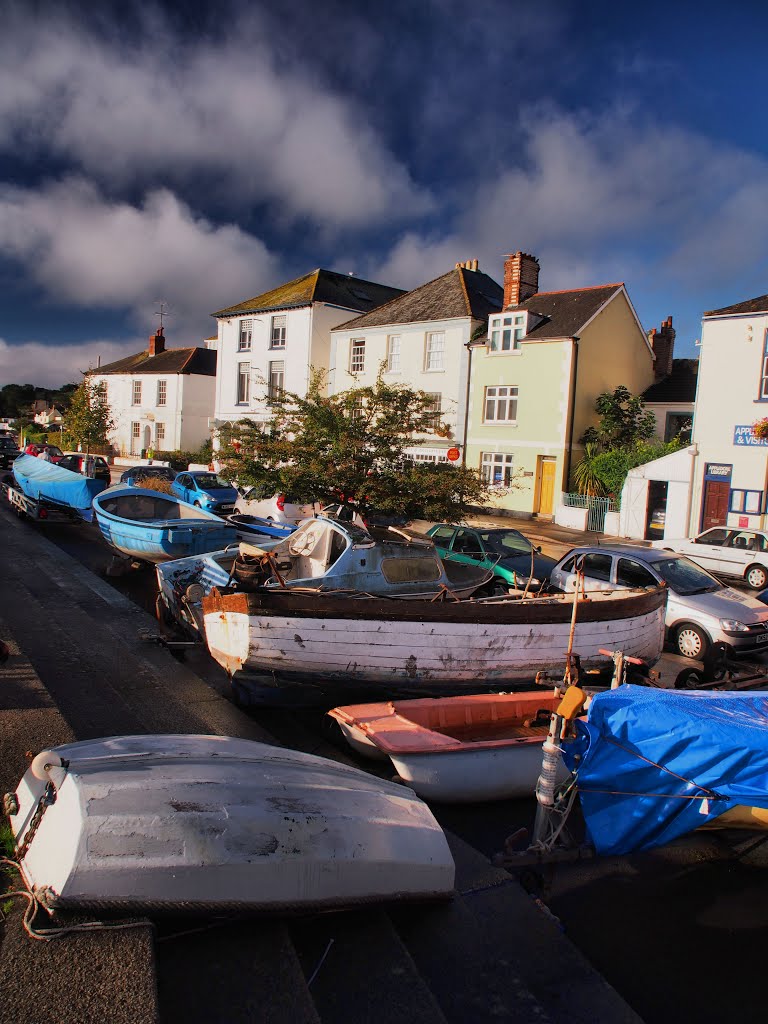
POLYGON ((487 316, 501 309, 503 290, 477 260, 394 298, 331 332, 331 390, 384 380, 432 399, 435 432, 415 438, 417 461, 445 462, 466 431, 469 345, 487 316))

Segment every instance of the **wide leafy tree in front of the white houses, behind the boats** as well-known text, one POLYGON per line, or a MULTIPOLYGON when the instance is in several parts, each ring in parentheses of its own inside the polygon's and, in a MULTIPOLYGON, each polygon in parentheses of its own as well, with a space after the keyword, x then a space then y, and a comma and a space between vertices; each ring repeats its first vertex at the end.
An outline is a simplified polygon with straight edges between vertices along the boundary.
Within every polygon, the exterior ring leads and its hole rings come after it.
POLYGON ((483 505, 487 485, 475 470, 414 463, 414 434, 434 429, 433 399, 387 384, 325 393, 325 374, 311 374, 306 396, 272 396, 266 423, 224 428, 219 458, 241 484, 259 484, 303 500, 331 499, 361 511, 456 521, 483 505))

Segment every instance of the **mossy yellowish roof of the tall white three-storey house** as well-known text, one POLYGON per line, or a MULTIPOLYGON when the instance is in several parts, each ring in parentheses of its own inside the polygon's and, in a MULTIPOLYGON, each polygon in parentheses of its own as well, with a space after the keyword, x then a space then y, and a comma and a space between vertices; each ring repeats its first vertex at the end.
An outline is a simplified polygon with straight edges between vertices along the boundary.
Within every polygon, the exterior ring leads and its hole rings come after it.
POLYGON ((242 313, 272 312, 279 309, 296 309, 311 302, 328 302, 345 309, 368 311, 402 295, 401 288, 388 288, 373 281, 362 281, 333 270, 312 270, 303 278, 296 278, 269 292, 263 292, 245 302, 211 313, 212 316, 239 316, 242 313))

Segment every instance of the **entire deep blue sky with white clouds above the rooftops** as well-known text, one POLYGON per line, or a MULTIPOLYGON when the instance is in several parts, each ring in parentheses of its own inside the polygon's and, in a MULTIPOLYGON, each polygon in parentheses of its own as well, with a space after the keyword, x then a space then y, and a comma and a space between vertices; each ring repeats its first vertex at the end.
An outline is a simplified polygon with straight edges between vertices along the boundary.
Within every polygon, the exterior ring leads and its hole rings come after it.
POLYGON ((325 267, 624 282, 693 356, 768 293, 768 7, 0 0, 0 387, 325 267), (756 43, 758 45, 756 45, 756 43))

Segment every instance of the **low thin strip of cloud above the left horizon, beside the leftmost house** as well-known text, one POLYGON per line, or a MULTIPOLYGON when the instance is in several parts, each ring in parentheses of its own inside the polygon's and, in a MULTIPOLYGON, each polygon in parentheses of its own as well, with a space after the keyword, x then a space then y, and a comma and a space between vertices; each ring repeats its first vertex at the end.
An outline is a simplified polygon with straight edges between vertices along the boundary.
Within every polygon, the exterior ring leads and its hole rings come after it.
POLYGON ((40 387, 78 384, 91 367, 106 366, 146 347, 145 338, 133 341, 84 341, 52 347, 40 341, 9 345, 0 338, 0 381, 30 383, 40 387))

